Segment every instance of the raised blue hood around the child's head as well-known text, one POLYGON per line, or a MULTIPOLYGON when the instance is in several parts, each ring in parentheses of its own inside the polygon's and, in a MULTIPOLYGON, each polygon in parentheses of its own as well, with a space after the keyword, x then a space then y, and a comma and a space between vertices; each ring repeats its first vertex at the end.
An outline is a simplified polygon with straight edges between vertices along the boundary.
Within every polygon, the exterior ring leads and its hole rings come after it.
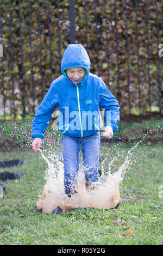
POLYGON ((83 47, 80 44, 68 45, 61 60, 61 72, 65 75, 65 70, 69 68, 81 67, 90 71, 90 58, 83 47))

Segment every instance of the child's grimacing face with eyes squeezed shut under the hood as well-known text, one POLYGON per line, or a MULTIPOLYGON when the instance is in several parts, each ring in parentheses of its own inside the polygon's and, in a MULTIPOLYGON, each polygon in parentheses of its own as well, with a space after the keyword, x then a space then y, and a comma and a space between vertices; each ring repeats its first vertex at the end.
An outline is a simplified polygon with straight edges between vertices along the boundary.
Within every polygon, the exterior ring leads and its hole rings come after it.
POLYGON ((67 77, 73 82, 78 83, 82 81, 85 76, 85 69, 84 68, 70 68, 66 69, 67 77))

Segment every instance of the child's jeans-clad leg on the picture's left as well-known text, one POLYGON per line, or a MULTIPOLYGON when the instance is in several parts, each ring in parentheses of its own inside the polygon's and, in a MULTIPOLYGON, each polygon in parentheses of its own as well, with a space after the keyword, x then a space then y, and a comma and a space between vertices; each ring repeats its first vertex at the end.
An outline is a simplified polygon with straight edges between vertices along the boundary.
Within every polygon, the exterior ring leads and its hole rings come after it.
POLYGON ((64 157, 64 185, 68 196, 74 193, 74 178, 79 170, 80 138, 68 135, 62 137, 64 157))

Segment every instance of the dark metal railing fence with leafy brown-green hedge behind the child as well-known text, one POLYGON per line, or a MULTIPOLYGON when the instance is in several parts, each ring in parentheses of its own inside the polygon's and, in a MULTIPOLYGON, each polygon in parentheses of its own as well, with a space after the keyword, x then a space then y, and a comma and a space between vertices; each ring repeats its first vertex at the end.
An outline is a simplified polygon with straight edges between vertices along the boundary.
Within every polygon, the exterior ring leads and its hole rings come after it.
POLYGON ((157 0, 0 0, 1 120, 34 115, 70 43, 86 48, 122 120, 161 119, 162 10, 157 0))

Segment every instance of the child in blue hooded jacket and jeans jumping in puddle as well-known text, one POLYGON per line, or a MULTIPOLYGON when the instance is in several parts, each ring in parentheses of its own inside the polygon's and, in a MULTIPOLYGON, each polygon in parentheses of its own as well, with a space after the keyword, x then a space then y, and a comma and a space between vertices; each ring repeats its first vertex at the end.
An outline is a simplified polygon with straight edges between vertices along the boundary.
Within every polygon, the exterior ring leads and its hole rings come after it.
POLYGON ((51 83, 33 120, 33 150, 40 148, 43 134, 58 105, 58 126, 62 134, 65 193, 71 197, 79 169, 79 151, 83 152, 85 184, 95 188, 98 181, 100 130, 103 127, 99 107, 105 109, 104 136, 117 131, 120 113, 117 100, 102 78, 90 73, 90 59, 80 44, 68 45, 61 61, 62 75, 51 83))

